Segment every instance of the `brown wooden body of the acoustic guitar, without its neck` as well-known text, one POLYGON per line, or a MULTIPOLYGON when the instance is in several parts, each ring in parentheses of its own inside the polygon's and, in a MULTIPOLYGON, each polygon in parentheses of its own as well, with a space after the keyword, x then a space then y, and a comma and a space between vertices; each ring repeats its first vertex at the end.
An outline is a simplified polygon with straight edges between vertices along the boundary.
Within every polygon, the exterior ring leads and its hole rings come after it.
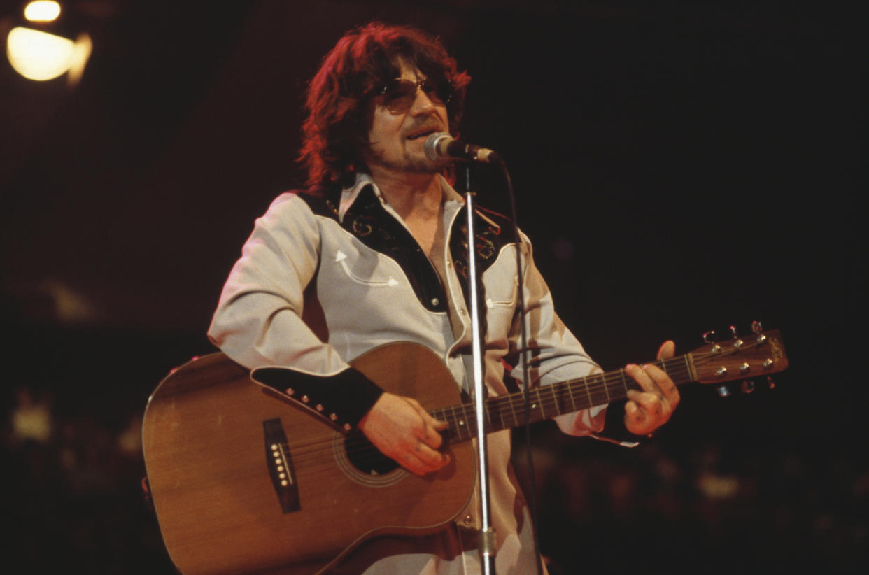
MULTIPOLYGON (((428 410, 459 403, 447 368, 425 347, 390 344, 353 365, 428 410)), ((449 446, 451 463, 420 478, 401 467, 362 472, 350 463, 344 441, 318 416, 250 380, 224 354, 170 373, 145 410, 143 455, 178 570, 313 575, 378 534, 434 532, 468 504, 476 479, 470 442, 449 446), (275 440, 264 422, 285 436, 289 486, 276 483, 269 461, 275 440)))

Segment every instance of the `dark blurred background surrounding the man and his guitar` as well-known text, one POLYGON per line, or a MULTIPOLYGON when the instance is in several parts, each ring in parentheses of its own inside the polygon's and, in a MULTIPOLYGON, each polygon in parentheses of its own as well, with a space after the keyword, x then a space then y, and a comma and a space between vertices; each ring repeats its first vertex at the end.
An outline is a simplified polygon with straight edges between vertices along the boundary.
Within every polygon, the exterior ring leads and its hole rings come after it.
MULTIPOLYGON (((253 220, 303 181, 308 78, 380 19, 473 76, 463 135, 507 159, 556 307, 604 367, 753 320, 784 336, 775 389, 685 387, 634 450, 534 429, 553 572, 862 571, 864 5, 70 3, 94 40, 80 85, 0 63, 4 561, 172 572, 139 493, 145 402, 213 350, 253 220), (42 440, 12 424, 34 405, 42 440)), ((19 8, 0 2, 3 30, 19 8)), ((499 175, 474 178, 505 209, 499 175)))

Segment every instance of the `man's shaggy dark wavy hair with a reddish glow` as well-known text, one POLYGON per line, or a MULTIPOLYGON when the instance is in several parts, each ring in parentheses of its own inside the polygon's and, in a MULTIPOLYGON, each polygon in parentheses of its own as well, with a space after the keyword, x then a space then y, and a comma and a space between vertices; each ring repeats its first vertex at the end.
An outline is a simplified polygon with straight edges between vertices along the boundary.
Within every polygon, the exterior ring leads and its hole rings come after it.
POLYGON ((326 57, 308 86, 308 118, 302 124, 299 162, 308 168, 308 184, 351 184, 365 171, 362 150, 371 126, 368 102, 389 80, 401 76, 400 62, 414 65, 438 81, 448 81, 450 131, 457 135, 471 77, 456 68, 437 38, 408 26, 369 23, 350 30, 326 57))

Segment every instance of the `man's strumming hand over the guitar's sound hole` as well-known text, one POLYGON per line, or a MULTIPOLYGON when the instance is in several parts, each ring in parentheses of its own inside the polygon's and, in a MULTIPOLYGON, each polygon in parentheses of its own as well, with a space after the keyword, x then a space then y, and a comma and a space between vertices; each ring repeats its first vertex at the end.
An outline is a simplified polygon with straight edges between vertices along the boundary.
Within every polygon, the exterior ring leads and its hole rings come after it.
POLYGON ((443 443, 446 421, 435 420, 417 400, 393 393, 380 399, 359 422, 359 429, 384 455, 417 475, 426 475, 449 463, 437 451, 443 443))

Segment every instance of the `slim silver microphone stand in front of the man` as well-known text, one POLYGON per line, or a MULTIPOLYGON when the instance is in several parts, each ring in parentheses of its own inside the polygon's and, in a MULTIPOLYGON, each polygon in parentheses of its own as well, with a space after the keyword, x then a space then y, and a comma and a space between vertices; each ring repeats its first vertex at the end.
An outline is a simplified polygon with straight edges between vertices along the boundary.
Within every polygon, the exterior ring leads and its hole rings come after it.
POLYGON ((468 293, 471 300, 471 349, 474 360, 474 406, 477 422, 477 462, 480 479, 480 562, 484 575, 494 575, 495 537, 489 501, 488 457, 486 443, 486 387, 483 385, 483 357, 480 334, 480 310, 477 302, 477 266, 474 248, 474 193, 471 192, 471 169, 465 168, 467 188, 465 208, 468 210, 468 293))

